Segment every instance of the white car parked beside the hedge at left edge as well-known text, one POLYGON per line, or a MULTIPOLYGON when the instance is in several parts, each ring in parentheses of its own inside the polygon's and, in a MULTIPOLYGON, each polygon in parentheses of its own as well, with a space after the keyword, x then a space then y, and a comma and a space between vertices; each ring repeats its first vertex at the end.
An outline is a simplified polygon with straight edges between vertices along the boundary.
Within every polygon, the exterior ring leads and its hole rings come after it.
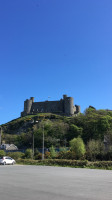
POLYGON ((14 165, 16 161, 8 156, 2 156, 0 157, 0 164, 1 165, 14 165))

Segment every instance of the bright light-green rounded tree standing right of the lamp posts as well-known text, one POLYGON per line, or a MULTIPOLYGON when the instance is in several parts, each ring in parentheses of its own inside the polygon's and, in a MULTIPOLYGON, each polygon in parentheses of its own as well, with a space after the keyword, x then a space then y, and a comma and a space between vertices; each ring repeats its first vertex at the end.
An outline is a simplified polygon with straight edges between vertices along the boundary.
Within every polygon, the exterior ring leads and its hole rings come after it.
POLYGON ((78 159, 84 156, 86 152, 85 144, 80 137, 72 139, 70 141, 70 147, 71 150, 75 152, 78 159))

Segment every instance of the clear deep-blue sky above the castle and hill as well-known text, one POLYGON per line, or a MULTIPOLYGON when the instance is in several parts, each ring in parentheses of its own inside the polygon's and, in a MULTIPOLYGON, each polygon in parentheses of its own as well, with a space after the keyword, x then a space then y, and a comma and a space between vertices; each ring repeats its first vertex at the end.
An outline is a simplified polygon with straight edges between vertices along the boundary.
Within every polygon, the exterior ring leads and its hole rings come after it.
POLYGON ((112 109, 112 1, 0 1, 0 124, 24 100, 112 109))

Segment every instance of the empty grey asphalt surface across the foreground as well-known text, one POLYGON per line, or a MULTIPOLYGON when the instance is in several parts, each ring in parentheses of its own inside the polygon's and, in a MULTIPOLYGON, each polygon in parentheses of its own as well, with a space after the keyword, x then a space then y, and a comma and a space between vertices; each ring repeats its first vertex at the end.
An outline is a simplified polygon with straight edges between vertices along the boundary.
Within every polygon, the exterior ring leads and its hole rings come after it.
POLYGON ((112 200, 112 171, 0 166, 0 200, 112 200))

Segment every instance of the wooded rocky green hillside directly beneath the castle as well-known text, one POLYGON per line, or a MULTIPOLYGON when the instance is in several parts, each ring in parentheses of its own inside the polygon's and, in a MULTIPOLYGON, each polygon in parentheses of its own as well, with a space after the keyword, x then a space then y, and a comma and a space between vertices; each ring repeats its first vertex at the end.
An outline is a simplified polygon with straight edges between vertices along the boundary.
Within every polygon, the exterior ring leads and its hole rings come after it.
POLYGON ((89 140, 104 140, 112 135, 112 111, 86 109, 84 114, 66 117, 51 113, 39 113, 12 120, 2 125, 2 141, 14 143, 19 148, 42 147, 42 133, 45 133, 45 147, 69 146, 69 141, 80 136, 85 144, 89 140), (38 121, 38 122, 37 122, 38 121))

